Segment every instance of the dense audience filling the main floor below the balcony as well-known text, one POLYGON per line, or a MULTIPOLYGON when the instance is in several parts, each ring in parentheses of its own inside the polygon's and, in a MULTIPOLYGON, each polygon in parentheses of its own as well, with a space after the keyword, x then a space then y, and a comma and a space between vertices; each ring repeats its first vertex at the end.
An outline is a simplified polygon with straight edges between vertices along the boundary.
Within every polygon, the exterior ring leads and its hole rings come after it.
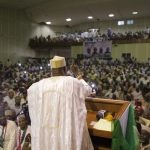
MULTIPOLYGON (((96 97, 130 101, 135 107, 138 124, 150 128, 149 62, 139 63, 135 58, 114 61, 104 61, 98 57, 68 58, 67 75, 76 77, 78 74, 82 74, 96 97)), ((16 122, 14 128, 20 129, 22 124, 26 128, 30 126, 27 89, 50 76, 49 59, 16 64, 7 60, 5 64, 0 63, 0 107, 4 107, 8 120, 16 122)), ((142 132, 140 127, 139 132, 142 132)), ((145 132, 150 137, 147 130, 145 132)), ((29 139, 28 135, 24 140, 30 143, 29 139)), ((25 146, 29 147, 29 143, 25 146)))

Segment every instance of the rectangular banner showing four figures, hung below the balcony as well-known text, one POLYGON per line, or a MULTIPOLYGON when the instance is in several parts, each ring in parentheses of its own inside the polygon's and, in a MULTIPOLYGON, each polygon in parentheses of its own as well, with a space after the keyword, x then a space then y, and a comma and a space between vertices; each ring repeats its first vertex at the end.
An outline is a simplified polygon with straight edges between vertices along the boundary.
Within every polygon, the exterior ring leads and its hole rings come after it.
POLYGON ((87 41, 84 42, 83 48, 83 54, 86 56, 111 57, 112 41, 87 41))

